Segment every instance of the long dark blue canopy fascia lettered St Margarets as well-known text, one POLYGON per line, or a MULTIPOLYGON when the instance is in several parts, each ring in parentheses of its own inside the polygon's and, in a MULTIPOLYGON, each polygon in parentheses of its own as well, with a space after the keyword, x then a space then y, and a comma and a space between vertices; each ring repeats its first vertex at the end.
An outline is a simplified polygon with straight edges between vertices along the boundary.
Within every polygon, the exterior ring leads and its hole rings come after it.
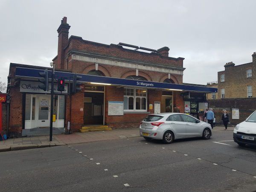
MULTIPOLYGON (((44 72, 44 70, 16 67, 15 76, 41 78, 39 76, 39 72, 44 72)), ((51 73, 52 73, 51 71, 48 71, 49 77, 51 76, 51 73)), ((75 73, 55 71, 55 79, 62 77, 67 81, 73 81, 74 74, 75 73)), ((79 81, 87 82, 90 84, 96 83, 96 84, 102 84, 102 85, 133 86, 133 87, 157 88, 157 89, 167 89, 167 90, 196 91, 196 92, 204 92, 204 93, 218 92, 218 89, 212 88, 212 87, 160 83, 160 82, 153 82, 153 81, 139 81, 139 80, 132 80, 132 79, 120 79, 120 78, 113 78, 113 77, 92 76, 92 75, 84 75, 84 74, 78 74, 78 75, 82 77, 79 81)))

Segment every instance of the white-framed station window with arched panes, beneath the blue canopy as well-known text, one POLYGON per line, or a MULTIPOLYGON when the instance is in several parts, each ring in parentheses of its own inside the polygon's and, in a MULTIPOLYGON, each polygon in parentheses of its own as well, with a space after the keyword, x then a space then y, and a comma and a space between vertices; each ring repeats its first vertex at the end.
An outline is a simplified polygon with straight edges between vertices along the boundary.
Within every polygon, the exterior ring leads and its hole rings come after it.
POLYGON ((124 111, 146 111, 147 90, 124 88, 124 111))

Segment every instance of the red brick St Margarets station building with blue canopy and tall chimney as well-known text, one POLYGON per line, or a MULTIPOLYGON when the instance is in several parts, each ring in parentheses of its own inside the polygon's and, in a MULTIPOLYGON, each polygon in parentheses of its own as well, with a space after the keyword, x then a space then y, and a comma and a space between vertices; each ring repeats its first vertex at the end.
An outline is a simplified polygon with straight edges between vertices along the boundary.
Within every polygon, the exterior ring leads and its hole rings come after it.
MULTIPOLYGON (((69 36, 67 17, 58 27, 58 55, 53 58, 55 78, 65 79, 65 91, 55 92, 53 127, 72 131, 84 125, 109 128, 138 127, 149 113, 184 113, 183 93, 205 97, 216 89, 183 84, 184 58, 169 57, 169 48, 157 50, 129 44, 101 44, 69 36), (81 91, 71 93, 73 74, 82 77, 81 91)), ((10 64, 10 136, 49 127, 49 92, 38 87, 45 67, 10 64)), ((51 70, 51 68, 48 68, 51 70)), ((205 97, 206 98, 206 97, 205 97)))

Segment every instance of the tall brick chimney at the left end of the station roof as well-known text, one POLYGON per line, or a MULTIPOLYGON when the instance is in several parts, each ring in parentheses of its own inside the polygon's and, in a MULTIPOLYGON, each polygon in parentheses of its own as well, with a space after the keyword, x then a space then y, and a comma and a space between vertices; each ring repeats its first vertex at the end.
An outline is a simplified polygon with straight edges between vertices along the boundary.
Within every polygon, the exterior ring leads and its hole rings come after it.
POLYGON ((68 44, 68 31, 70 25, 67 24, 67 17, 63 17, 61 20, 61 25, 58 27, 58 57, 56 68, 64 69, 64 48, 68 44))

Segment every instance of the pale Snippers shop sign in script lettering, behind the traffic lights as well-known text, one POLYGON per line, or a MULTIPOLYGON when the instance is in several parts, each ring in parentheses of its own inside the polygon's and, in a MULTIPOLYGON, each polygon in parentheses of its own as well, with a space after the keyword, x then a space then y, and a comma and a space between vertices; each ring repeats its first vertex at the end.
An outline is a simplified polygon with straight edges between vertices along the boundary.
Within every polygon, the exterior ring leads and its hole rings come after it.
MULTIPOLYGON (((49 91, 42 90, 38 85, 39 81, 20 81, 20 92, 27 93, 51 93, 51 84, 49 83, 49 91)), ((57 90, 57 84, 54 84, 54 93, 61 93, 57 90)), ((67 84, 65 84, 65 90, 62 93, 67 94, 67 84)))

